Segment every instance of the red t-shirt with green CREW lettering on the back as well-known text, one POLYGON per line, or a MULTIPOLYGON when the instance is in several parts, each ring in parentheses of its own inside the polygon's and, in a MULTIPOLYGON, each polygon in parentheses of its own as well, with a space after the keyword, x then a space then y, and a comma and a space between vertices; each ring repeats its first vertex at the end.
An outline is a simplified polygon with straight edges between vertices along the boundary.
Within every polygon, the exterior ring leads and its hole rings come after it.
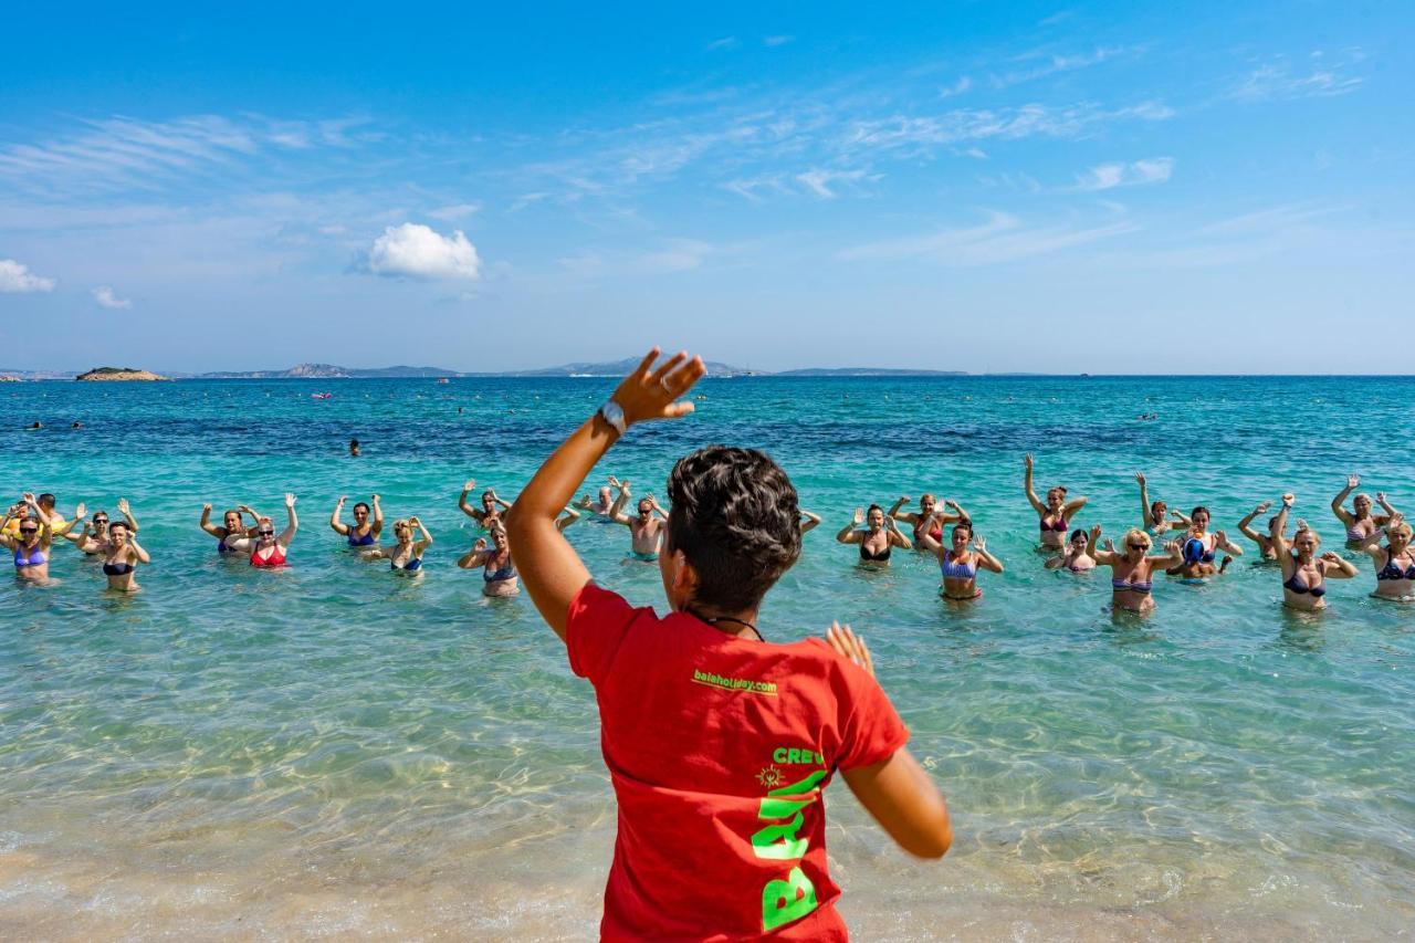
POLYGON ((846 939, 822 791, 908 741, 874 678, 821 639, 736 639, 593 583, 566 644, 618 799, 603 939, 846 939))

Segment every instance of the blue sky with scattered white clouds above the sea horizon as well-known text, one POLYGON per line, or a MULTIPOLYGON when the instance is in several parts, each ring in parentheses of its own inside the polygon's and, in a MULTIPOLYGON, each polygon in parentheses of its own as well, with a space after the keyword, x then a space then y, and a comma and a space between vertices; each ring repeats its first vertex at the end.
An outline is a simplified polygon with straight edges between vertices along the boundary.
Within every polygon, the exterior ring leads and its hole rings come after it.
POLYGON ((0 367, 1411 372, 1408 3, 21 4, 0 367))

